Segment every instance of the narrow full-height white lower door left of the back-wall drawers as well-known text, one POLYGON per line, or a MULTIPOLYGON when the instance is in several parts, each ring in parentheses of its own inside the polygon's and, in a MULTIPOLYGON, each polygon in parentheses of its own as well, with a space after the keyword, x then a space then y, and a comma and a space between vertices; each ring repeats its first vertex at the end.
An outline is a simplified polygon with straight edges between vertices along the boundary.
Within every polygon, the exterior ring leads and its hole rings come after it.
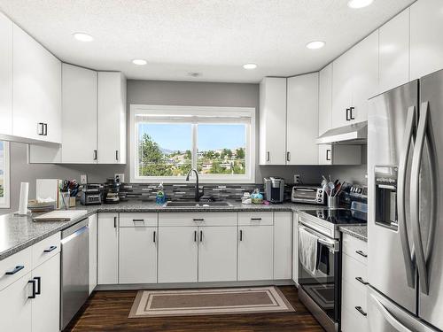
POLYGON ((97 283, 119 282, 119 214, 98 215, 97 283))

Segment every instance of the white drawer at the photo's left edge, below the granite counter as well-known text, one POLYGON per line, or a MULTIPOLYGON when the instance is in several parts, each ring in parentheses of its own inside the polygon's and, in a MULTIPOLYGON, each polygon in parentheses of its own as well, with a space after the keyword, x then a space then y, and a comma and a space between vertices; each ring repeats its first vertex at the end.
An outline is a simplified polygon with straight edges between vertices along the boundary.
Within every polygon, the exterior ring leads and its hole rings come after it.
POLYGON ((31 247, 0 260, 0 290, 31 271, 31 247))

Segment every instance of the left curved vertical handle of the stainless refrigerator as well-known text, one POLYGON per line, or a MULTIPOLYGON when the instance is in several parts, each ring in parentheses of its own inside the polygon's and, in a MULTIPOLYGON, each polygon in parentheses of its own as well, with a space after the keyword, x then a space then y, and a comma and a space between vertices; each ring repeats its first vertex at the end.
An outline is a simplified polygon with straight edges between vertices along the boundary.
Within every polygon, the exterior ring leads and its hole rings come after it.
POLYGON ((401 249, 403 251, 403 259, 405 261, 406 276, 408 280, 408 286, 415 288, 416 272, 414 266, 414 256, 411 254, 408 241, 408 228, 406 222, 406 174, 408 167, 408 158, 410 153, 411 142, 414 145, 414 127, 416 126, 416 106, 410 106, 408 108, 408 117, 406 119, 406 128, 403 135, 403 145, 401 147, 401 155, 399 162, 398 183, 397 183, 397 219, 399 222, 399 233, 401 241, 401 249))

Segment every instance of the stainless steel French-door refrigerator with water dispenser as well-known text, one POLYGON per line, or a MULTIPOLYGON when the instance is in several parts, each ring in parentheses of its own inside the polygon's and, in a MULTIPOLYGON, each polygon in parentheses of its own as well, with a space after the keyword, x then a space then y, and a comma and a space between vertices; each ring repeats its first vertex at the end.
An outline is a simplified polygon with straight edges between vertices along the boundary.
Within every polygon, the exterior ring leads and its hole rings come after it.
POLYGON ((369 100, 371 332, 443 329, 443 71, 369 100))

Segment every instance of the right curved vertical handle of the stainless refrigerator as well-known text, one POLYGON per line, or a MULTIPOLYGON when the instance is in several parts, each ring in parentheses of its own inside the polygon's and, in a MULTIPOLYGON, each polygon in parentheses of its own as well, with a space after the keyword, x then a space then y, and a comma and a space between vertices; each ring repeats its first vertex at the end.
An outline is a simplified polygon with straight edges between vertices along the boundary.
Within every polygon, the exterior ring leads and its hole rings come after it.
MULTIPOLYGON (((420 279, 420 289, 421 291, 428 295, 429 294, 429 276, 426 264, 424 245, 421 235, 420 226, 420 166, 424 151, 424 142, 427 141, 427 146, 429 148, 429 158, 430 158, 430 175, 431 175, 431 215, 430 215, 430 232, 433 233, 433 228, 435 228, 436 220, 436 171, 435 171, 435 153, 434 153, 434 142, 433 135, 430 131, 429 123, 429 103, 424 102, 420 106, 420 120, 417 127, 417 138, 414 147, 414 154, 412 157, 412 168, 411 168, 411 186, 410 186, 410 205, 411 205, 411 220, 412 220, 412 235, 414 239, 414 246, 416 248, 416 265, 418 268, 418 275, 420 279)), ((431 245, 433 234, 430 241, 428 241, 428 247, 426 254, 429 256, 431 254, 431 245)))

